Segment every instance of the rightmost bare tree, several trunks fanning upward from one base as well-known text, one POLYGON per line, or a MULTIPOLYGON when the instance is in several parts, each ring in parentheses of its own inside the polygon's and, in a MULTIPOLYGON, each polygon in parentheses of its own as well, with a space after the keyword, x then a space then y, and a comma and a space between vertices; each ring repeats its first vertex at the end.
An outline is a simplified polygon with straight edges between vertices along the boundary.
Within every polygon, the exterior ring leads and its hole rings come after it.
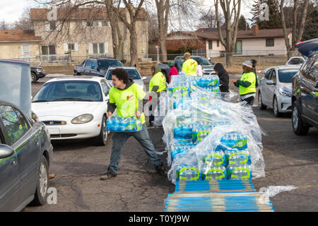
POLYGON ((292 41, 290 44, 290 40, 288 38, 288 31, 286 27, 285 13, 283 13, 285 0, 274 0, 277 11, 281 13, 281 23, 283 26, 286 50, 288 51, 288 58, 292 57, 293 53, 291 51, 295 51, 295 44, 300 42, 300 40, 302 39, 302 34, 304 32, 307 17, 308 1, 309 0, 293 0, 293 27, 292 41), (302 10, 302 20, 298 25, 298 11, 300 10, 302 10))

